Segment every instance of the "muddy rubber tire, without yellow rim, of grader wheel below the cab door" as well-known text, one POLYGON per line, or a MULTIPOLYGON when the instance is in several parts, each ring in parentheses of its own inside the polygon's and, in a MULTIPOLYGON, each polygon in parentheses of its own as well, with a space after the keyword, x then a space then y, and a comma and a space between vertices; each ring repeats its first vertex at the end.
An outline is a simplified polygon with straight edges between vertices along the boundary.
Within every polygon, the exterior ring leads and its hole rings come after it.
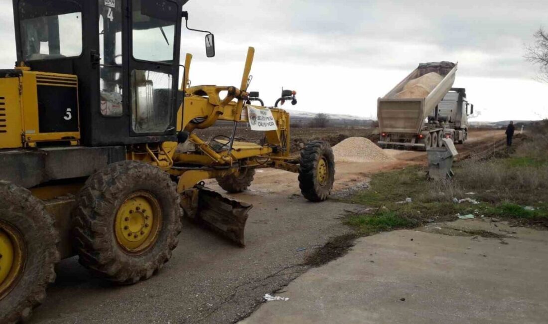
POLYGON ((172 257, 181 218, 180 196, 169 174, 141 162, 111 164, 92 175, 78 196, 73 233, 79 263, 93 275, 123 285, 147 280, 172 257), (157 241, 144 253, 130 255, 119 246, 113 224, 125 198, 139 190, 157 198, 162 223, 157 241))

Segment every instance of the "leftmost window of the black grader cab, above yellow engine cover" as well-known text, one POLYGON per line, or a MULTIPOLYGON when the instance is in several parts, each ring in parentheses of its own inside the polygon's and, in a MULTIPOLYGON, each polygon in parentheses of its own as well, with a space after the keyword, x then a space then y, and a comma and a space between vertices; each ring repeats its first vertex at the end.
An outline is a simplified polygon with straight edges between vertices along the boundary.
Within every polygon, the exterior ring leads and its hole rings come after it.
POLYGON ((21 0, 21 47, 26 61, 82 54, 82 9, 70 0, 21 0))

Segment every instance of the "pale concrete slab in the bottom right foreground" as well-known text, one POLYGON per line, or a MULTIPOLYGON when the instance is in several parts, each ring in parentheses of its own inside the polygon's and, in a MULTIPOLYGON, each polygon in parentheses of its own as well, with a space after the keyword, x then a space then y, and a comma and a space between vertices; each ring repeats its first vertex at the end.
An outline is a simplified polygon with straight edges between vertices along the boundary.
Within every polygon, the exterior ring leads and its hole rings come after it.
POLYGON ((546 323, 547 257, 548 232, 488 220, 387 232, 241 323, 546 323))

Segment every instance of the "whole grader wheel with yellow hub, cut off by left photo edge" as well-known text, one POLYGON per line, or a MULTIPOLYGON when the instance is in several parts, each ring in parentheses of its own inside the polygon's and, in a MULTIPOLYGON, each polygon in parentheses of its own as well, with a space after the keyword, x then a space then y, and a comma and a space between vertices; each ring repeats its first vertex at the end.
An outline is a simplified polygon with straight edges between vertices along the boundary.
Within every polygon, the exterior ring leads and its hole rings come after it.
POLYGON ((0 323, 30 317, 55 281, 59 236, 31 192, 0 181, 0 323))

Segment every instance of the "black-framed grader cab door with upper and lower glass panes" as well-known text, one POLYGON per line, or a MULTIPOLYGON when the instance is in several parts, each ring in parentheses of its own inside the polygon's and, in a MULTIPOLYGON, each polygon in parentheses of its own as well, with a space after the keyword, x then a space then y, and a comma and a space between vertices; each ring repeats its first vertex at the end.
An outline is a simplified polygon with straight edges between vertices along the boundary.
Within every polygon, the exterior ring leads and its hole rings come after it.
POLYGON ((170 0, 128 1, 130 135, 175 135, 180 5, 170 0))

